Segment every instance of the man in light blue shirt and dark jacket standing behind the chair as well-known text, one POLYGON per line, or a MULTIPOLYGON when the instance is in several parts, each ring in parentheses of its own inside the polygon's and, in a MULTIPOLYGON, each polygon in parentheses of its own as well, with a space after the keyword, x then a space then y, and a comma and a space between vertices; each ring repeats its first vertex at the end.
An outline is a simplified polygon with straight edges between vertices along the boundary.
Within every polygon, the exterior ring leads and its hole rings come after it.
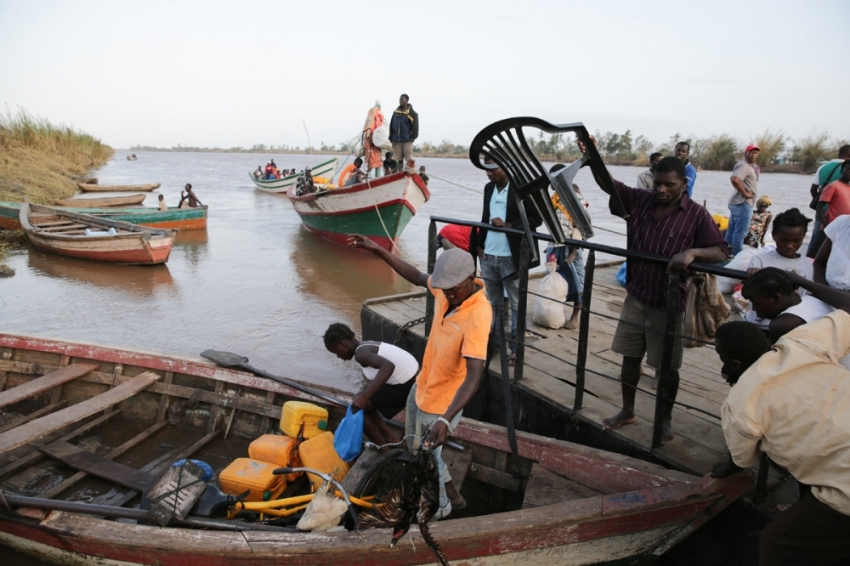
MULTIPOLYGON (((493 161, 485 159, 484 163, 493 163, 493 161)), ((522 229, 522 217, 508 176, 501 168, 497 167, 487 170, 487 178, 490 179, 490 182, 484 186, 484 212, 481 215, 481 223, 492 224, 499 228, 522 229)), ((536 207, 528 206, 525 212, 532 229, 543 223, 543 219, 537 215, 536 207)), ((519 268, 522 236, 507 236, 502 232, 479 228, 473 230, 472 240, 470 252, 477 253, 481 261, 481 278, 484 280, 487 299, 493 307, 494 321, 496 309, 499 303, 504 301, 504 293, 507 292, 508 294, 511 309, 511 336, 508 344, 511 350, 509 363, 513 365, 513 361, 516 359, 513 352, 516 350, 519 282, 516 277, 504 283, 502 279, 516 273, 519 268)))

